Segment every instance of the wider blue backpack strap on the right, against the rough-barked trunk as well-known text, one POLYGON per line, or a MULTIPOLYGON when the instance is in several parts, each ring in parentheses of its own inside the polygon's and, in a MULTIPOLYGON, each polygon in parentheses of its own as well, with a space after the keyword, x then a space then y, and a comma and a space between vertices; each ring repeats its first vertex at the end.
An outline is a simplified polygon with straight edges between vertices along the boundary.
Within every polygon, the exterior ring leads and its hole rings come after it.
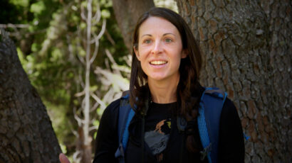
POLYGON ((209 163, 217 163, 219 121, 226 99, 226 92, 217 88, 206 88, 199 102, 198 128, 204 150, 201 159, 207 156, 209 163))

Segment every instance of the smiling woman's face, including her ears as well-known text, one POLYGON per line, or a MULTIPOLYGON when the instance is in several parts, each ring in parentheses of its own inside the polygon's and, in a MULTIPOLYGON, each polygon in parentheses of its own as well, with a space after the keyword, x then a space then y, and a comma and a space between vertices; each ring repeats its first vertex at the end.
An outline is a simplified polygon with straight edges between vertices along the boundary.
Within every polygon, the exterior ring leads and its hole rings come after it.
POLYGON ((147 79, 154 81, 179 79, 180 60, 187 57, 177 28, 164 18, 150 17, 139 29, 137 60, 147 79))

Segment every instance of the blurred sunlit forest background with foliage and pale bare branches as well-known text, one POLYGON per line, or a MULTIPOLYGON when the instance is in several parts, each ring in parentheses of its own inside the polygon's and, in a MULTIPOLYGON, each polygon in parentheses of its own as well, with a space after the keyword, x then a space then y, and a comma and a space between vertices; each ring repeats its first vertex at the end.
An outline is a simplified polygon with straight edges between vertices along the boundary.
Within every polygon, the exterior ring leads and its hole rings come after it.
MULTIPOLYGON (((105 107, 129 89, 131 55, 113 2, 1 0, 0 4, 0 28, 14 40, 63 153, 71 161, 86 162, 80 158, 86 148, 83 142, 90 142, 93 153, 105 107)), ((172 0, 156 0, 155 5, 177 11, 172 0)))

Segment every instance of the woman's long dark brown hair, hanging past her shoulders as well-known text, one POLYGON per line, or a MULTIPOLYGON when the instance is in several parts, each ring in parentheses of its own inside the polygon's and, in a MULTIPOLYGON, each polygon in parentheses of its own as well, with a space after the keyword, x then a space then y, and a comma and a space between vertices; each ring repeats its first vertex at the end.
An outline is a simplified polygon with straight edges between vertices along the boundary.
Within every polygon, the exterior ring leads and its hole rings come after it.
MULTIPOLYGON (((184 116, 187 121, 197 121, 199 98, 202 94, 202 86, 199 84, 199 71, 201 69, 202 59, 196 40, 184 19, 170 9, 152 8, 145 12, 137 21, 133 35, 133 47, 138 47, 139 28, 141 24, 151 16, 165 18, 170 21, 182 38, 182 48, 187 51, 187 57, 181 60, 179 66, 179 84, 177 86, 177 104, 179 115, 184 116)), ((148 99, 145 91, 147 87, 147 75, 142 71, 140 61, 137 60, 134 50, 132 50, 132 68, 130 77, 130 104, 137 106, 137 112, 142 112, 143 105, 148 99), (139 100, 137 100, 139 99, 139 100)), ((194 129, 190 129, 194 130, 194 129)), ((192 133, 192 131, 191 131, 192 133)), ((187 149, 190 152, 198 151, 198 143, 193 135, 187 136, 187 149)))

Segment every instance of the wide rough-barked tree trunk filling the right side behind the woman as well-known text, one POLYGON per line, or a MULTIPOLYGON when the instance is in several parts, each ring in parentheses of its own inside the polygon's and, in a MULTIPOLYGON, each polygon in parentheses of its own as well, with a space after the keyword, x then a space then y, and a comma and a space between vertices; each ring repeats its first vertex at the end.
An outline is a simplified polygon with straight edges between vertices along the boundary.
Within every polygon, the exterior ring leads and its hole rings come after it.
POLYGON ((292 162, 291 2, 177 5, 202 51, 201 83, 227 91, 251 136, 245 162, 292 162))

